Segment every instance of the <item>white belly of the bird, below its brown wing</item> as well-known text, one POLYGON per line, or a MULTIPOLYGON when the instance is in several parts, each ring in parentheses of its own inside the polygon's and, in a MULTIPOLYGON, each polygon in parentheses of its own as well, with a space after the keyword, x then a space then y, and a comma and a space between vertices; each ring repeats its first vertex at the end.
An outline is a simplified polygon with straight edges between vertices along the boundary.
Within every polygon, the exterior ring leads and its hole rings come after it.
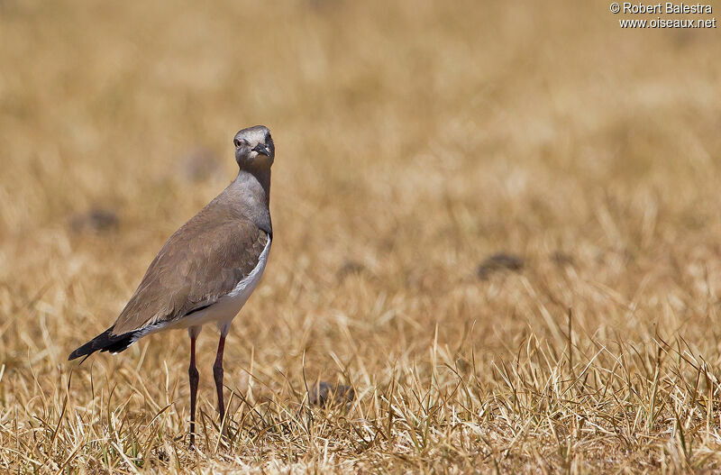
POLYGON ((167 326, 166 328, 189 328, 194 327, 195 333, 200 333, 200 327, 204 324, 215 323, 221 334, 228 333, 231 322, 235 315, 241 311, 242 306, 251 297, 253 290, 258 287, 260 277, 265 270, 265 264, 268 262, 268 253, 270 251, 270 239, 265 248, 260 253, 260 259, 255 269, 251 270, 245 279, 242 279, 226 296, 220 297, 217 302, 198 312, 187 315, 178 320, 178 322, 167 326))

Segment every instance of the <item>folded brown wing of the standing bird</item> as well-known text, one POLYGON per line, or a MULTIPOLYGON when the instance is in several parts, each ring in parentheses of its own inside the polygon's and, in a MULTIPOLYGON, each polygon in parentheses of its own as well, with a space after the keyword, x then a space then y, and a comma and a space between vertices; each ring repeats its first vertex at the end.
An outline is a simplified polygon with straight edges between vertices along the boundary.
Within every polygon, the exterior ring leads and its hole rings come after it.
POLYGON ((213 305, 258 265, 269 236, 250 220, 206 207, 170 236, 113 325, 113 334, 213 305))

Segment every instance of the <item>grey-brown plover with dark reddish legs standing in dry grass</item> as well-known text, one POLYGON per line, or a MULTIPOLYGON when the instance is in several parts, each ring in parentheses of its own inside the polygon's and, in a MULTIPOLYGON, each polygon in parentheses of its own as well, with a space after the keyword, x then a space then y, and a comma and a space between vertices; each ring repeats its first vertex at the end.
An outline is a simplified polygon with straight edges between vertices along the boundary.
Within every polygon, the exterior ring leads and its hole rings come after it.
POLYGON ((260 282, 273 240, 269 196, 275 145, 270 131, 264 125, 242 129, 233 145, 238 176, 163 244, 114 324, 68 357, 85 356, 85 361, 94 352, 119 353, 152 333, 187 328, 190 447, 196 435, 197 336, 204 324, 216 324, 220 333, 213 375, 223 425, 225 337, 260 282))

